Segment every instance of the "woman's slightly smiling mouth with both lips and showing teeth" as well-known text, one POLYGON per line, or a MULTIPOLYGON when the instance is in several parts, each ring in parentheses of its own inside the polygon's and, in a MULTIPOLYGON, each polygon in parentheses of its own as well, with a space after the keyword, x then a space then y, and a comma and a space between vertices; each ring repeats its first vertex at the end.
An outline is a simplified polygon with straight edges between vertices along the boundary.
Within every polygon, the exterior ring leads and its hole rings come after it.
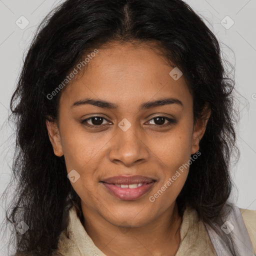
POLYGON ((145 176, 114 176, 100 181, 111 195, 121 200, 136 200, 146 194, 156 179, 145 176))

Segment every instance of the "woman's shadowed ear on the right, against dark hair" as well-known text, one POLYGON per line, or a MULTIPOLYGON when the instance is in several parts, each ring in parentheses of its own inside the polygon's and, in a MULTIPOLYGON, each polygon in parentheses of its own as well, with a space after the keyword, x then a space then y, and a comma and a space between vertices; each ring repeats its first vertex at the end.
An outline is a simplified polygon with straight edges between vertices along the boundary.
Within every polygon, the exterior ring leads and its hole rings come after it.
POLYGON ((194 124, 191 154, 194 154, 199 150, 199 142, 205 132, 210 114, 211 114, 210 108, 208 104, 206 104, 202 111, 202 119, 196 119, 196 122, 194 124))

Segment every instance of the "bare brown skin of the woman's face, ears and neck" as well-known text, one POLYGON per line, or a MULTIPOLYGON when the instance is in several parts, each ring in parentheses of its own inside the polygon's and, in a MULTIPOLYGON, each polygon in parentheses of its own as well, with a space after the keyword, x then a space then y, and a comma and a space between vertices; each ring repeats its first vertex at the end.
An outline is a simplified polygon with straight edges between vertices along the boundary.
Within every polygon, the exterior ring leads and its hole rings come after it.
MULTIPOLYGON (((180 236, 176 197, 187 178, 188 168, 154 202, 155 194, 190 155, 199 150, 207 120, 193 126, 193 99, 183 76, 174 80, 163 57, 145 44, 112 43, 99 48, 84 74, 67 85, 60 96, 59 123, 46 121, 54 153, 64 155, 67 172, 80 178, 71 183, 81 198, 83 226, 95 245, 107 256, 174 255, 180 236), (71 107, 84 98, 116 104, 107 109, 91 104, 71 107), (139 111, 143 102, 177 98, 176 103, 139 111), (86 127, 83 119, 102 116, 101 128, 86 127), (153 119, 166 116, 175 119, 153 119), (131 127, 118 123, 126 118, 131 127), (115 175, 154 177, 155 184, 142 197, 124 201, 100 183, 115 175), (126 229, 123 229, 123 228, 126 229)), ((209 117, 209 112, 207 112, 209 117)), ((87 124, 97 123, 89 119, 87 124)))

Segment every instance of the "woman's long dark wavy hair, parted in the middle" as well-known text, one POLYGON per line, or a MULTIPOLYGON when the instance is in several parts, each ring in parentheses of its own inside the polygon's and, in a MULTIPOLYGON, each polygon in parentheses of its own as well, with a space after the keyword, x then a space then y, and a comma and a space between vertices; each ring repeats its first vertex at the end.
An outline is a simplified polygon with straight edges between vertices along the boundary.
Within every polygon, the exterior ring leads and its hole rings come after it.
POLYGON ((233 152, 239 158, 234 81, 215 35, 182 0, 66 0, 38 26, 10 102, 9 120, 16 127, 11 182, 17 185, 6 222, 15 226, 23 220, 29 226, 24 234, 13 235, 16 255, 51 255, 67 226, 68 209, 75 205, 81 214, 64 156, 53 153, 45 125, 46 119, 58 119, 61 92, 51 100, 47 95, 91 49, 113 41, 156 42, 188 82, 194 122, 204 118, 209 106, 201 156, 190 164, 176 201, 181 214, 187 205, 196 209, 237 256, 231 234, 219 228, 233 205, 228 199, 230 158, 233 152))

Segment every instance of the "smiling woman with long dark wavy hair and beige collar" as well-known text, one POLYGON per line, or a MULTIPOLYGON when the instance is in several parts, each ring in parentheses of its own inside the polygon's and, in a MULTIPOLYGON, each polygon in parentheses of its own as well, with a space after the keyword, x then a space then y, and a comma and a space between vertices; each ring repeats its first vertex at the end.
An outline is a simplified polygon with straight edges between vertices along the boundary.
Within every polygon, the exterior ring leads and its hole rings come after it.
POLYGON ((253 255, 256 211, 228 201, 232 89, 181 0, 59 5, 11 99, 15 255, 253 255))

